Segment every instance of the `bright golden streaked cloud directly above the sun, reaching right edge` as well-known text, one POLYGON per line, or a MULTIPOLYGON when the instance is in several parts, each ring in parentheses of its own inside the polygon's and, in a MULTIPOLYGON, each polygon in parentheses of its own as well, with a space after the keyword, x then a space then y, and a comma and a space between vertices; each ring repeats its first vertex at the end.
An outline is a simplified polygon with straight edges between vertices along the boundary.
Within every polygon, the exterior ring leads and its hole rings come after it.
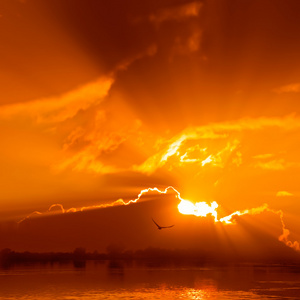
MULTIPOLYGON (((300 119, 295 117, 285 118, 246 118, 233 122, 212 123, 209 125, 189 127, 169 140, 165 140, 160 145, 159 151, 147 158, 142 164, 135 165, 133 169, 138 172, 151 174, 157 169, 162 168, 171 158, 178 157, 178 162, 172 161, 173 165, 177 163, 202 163, 202 166, 211 164, 223 168, 229 161, 236 166, 242 163, 242 151, 240 147, 239 136, 250 132, 260 133, 263 130, 298 130, 300 128, 300 119), (210 141, 210 142, 209 142, 210 141), (199 145, 205 143, 212 144, 218 141, 218 146, 206 149, 205 153, 197 153, 197 157, 191 157, 190 153, 199 145), (192 146, 186 145, 191 143, 192 146), (223 144, 220 146, 220 144, 223 144)), ((252 137, 253 138, 253 137, 252 137)), ((200 146, 199 146, 200 147, 200 146)), ((268 159, 272 154, 253 155, 254 159, 268 159)), ((254 163, 256 168, 270 170, 284 170, 287 167, 297 167, 299 164, 286 162, 283 158, 271 161, 259 161, 254 163)))

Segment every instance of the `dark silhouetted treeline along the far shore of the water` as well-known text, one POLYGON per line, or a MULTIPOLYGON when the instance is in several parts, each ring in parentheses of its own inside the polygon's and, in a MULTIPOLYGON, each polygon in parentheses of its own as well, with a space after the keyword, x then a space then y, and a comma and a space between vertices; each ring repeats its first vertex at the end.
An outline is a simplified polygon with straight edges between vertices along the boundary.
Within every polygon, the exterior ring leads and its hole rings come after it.
POLYGON ((10 268, 18 264, 48 264, 48 263, 70 263, 75 267, 84 267, 87 260, 110 261, 114 264, 119 261, 137 261, 148 265, 195 265, 205 264, 226 265, 228 263, 258 263, 258 264, 295 264, 300 267, 300 255, 284 259, 262 260, 250 257, 228 257, 222 254, 219 257, 210 253, 195 250, 169 250, 161 248, 146 248, 143 250, 123 250, 116 245, 109 245, 106 253, 86 252, 84 248, 76 248, 73 252, 15 252, 11 249, 0 251, 0 267, 10 268))

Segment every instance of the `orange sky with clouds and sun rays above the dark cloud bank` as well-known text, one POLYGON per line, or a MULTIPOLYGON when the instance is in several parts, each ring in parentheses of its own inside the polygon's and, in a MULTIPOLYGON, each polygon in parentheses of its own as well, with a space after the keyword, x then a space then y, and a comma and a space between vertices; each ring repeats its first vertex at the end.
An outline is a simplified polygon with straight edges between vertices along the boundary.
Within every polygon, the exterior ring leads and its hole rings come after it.
POLYGON ((175 208, 271 214, 299 250, 299 19, 297 0, 0 1, 1 223, 172 186, 175 208))

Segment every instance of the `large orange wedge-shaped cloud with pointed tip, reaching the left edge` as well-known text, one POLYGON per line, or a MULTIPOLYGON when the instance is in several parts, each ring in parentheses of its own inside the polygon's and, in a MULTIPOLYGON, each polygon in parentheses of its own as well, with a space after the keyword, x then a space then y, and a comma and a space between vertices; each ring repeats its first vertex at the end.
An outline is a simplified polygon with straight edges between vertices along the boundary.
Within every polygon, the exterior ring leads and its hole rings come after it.
POLYGON ((50 132, 60 141, 63 159, 51 163, 55 171, 114 173, 115 167, 99 160, 103 152, 113 151, 127 137, 126 129, 114 131, 106 123, 107 111, 102 103, 114 79, 102 78, 58 97, 39 99, 1 108, 0 118, 13 121, 25 118, 33 128, 50 132))

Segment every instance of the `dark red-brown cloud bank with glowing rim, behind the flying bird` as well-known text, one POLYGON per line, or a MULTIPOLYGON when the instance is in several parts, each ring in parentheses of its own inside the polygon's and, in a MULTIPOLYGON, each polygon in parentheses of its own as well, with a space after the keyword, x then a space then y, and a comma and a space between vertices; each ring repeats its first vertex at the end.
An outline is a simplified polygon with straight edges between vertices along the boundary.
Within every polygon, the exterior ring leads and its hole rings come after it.
POLYGON ((238 217, 235 225, 215 224, 210 217, 179 214, 177 203, 172 196, 160 196, 129 206, 26 219, 17 228, 2 228, 0 248, 72 251, 84 245, 89 251, 105 251, 111 244, 120 244, 127 250, 149 246, 196 250, 217 261, 299 259, 278 240, 282 228, 275 214, 238 217), (175 226, 158 231, 152 218, 175 226))

